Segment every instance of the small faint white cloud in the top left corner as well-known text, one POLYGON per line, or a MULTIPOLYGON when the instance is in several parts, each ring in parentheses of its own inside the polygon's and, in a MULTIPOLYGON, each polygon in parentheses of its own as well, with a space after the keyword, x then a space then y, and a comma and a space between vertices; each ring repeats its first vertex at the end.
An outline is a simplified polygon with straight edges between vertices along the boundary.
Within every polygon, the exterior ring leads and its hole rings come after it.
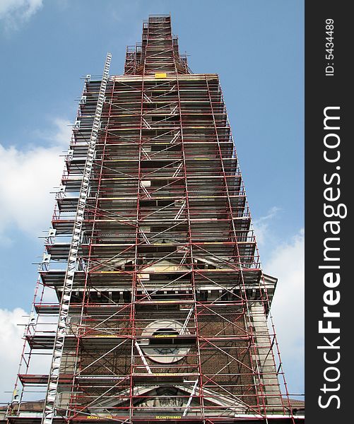
POLYGON ((30 20, 42 5, 43 0, 1 0, 0 20, 4 20, 7 30, 16 29, 30 20))

